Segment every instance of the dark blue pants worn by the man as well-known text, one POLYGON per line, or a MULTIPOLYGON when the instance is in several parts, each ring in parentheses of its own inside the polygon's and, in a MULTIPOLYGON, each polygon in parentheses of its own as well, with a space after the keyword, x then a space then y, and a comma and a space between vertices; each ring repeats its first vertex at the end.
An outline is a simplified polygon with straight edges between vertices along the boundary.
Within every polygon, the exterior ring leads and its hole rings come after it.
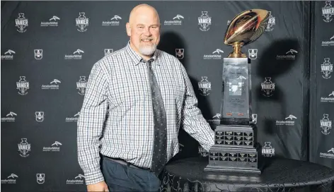
POLYGON ((149 169, 129 167, 103 157, 101 170, 109 191, 159 191, 160 180, 149 169))

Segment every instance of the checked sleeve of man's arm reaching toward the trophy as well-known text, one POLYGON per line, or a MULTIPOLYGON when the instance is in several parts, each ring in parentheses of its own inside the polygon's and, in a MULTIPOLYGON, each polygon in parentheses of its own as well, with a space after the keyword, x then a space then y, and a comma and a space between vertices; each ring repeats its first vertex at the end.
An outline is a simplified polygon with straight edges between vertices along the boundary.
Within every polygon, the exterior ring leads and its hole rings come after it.
POLYGON ((181 124, 183 124, 183 129, 189 133, 192 138, 195 138, 205 150, 209 151, 211 146, 214 145, 214 131, 212 131, 212 128, 197 107, 198 101, 187 71, 185 71, 182 64, 180 65, 186 89, 181 124))

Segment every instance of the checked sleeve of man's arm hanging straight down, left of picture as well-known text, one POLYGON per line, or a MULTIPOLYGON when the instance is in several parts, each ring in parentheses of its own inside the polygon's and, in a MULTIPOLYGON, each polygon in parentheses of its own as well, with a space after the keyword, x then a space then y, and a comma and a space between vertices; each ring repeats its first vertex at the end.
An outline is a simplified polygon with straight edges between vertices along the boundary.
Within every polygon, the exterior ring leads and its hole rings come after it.
POLYGON ((99 147, 108 109, 107 88, 107 78, 100 63, 96 63, 88 78, 77 129, 78 160, 86 185, 104 181, 100 171, 99 147))

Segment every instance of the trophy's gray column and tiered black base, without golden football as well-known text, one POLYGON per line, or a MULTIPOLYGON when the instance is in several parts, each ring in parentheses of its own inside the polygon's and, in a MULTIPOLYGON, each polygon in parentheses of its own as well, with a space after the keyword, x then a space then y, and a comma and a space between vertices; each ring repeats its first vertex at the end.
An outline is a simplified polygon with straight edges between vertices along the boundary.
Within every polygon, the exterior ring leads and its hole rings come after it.
POLYGON ((224 58, 222 75, 221 124, 214 131, 205 171, 260 173, 260 148, 251 122, 249 59, 224 58))

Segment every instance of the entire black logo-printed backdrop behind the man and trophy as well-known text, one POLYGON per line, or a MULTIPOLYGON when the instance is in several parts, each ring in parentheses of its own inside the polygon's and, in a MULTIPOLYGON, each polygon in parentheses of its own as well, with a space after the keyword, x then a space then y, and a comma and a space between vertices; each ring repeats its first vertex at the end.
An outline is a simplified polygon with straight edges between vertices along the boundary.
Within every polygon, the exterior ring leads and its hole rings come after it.
MULTIPOLYGON (((159 12, 159 49, 185 66, 212 129, 221 116, 222 61, 232 52, 227 26, 241 11, 270 11, 263 36, 242 49, 262 154, 334 168, 330 1, 1 1, 3 191, 86 189, 76 124, 89 73, 126 46, 129 12, 142 3, 159 12)), ((207 155, 182 129, 179 146, 175 158, 207 155)))

